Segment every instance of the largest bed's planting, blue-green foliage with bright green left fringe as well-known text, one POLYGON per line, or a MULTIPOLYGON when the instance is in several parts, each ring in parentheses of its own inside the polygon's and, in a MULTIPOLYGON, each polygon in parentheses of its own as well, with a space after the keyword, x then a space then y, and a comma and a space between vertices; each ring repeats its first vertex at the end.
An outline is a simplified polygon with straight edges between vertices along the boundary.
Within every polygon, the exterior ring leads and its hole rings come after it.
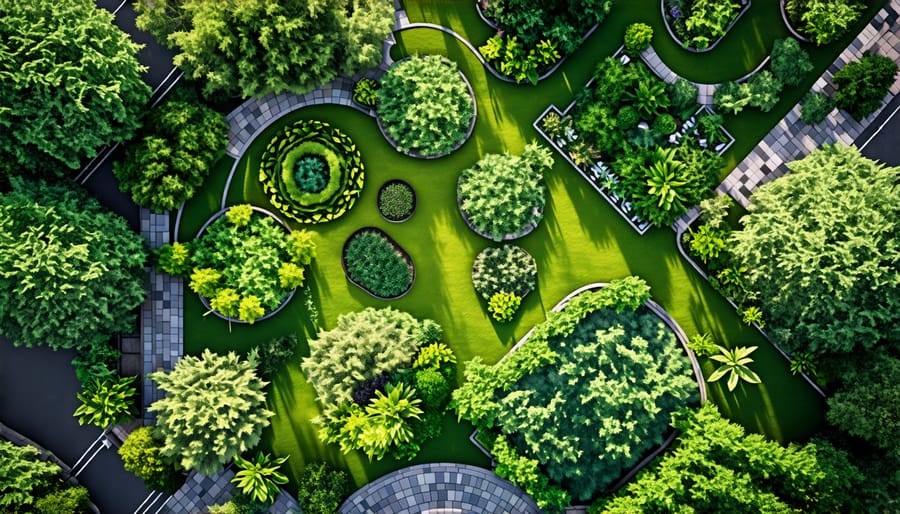
POLYGON ((603 492, 662 443, 672 412, 696 401, 697 384, 674 333, 641 309, 648 298, 638 278, 611 282, 548 313, 500 363, 476 358, 466 366, 466 383, 453 395, 460 418, 476 424, 480 440, 499 446, 498 474, 542 509, 603 492), (536 461, 549 485, 504 473, 522 459, 536 461))

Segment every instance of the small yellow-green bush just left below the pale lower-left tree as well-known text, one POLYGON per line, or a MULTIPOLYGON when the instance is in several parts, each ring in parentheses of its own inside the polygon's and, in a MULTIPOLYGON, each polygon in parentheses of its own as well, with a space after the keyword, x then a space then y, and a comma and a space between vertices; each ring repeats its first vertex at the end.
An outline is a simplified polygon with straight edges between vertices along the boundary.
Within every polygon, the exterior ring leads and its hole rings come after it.
POLYGON ((163 443, 153 436, 153 429, 140 427, 128 435, 119 457, 125 469, 144 481, 148 489, 174 494, 183 482, 175 465, 162 456, 163 443))

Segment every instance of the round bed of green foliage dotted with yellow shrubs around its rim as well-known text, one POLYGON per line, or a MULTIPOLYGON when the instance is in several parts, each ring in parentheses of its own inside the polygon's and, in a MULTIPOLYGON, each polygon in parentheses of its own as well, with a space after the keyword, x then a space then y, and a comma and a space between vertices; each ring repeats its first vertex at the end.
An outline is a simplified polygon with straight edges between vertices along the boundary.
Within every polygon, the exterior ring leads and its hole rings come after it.
POLYGON ((312 234, 237 205, 216 214, 190 246, 189 286, 217 316, 253 323, 281 309, 315 257, 312 234))

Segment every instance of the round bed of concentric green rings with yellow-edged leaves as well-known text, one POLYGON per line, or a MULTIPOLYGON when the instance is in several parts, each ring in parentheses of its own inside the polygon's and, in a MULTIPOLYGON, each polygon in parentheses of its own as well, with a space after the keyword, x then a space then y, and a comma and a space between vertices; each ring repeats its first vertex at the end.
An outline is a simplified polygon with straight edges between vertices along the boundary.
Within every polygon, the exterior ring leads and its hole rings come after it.
POLYGON ((362 191, 362 155, 349 136, 317 120, 301 120, 272 138, 259 180, 275 208, 301 223, 349 211, 362 191))

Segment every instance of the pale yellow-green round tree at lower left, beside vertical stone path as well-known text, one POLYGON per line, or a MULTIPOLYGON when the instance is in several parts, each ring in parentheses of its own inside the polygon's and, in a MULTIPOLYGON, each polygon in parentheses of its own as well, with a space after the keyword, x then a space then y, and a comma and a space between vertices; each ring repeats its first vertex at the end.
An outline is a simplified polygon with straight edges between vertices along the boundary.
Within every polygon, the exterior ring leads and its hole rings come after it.
POLYGON ((148 408, 164 441, 160 454, 204 475, 254 448, 273 414, 265 408, 268 382, 234 353, 207 349, 200 357, 185 356, 170 373, 149 377, 166 392, 148 408))

